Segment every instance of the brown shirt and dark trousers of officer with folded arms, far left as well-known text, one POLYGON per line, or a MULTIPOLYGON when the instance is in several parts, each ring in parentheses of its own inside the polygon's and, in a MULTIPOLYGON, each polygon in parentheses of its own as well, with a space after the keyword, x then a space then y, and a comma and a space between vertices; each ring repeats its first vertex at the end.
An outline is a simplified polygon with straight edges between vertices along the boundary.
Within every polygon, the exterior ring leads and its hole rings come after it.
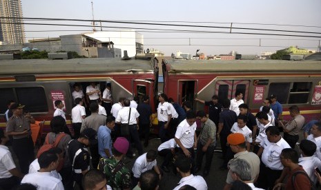
POLYGON ((7 132, 22 132, 29 129, 28 134, 12 136, 12 148, 19 160, 22 173, 28 173, 30 163, 35 160, 34 145, 31 138, 30 119, 25 116, 12 116, 7 123, 7 132))

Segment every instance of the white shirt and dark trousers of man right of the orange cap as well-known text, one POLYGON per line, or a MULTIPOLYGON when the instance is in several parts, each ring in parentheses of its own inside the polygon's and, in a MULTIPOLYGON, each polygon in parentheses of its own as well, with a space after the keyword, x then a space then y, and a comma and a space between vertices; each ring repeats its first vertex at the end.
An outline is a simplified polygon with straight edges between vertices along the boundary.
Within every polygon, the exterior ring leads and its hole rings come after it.
POLYGON ((275 180, 280 178, 282 173, 283 165, 280 159, 282 149, 291 147, 282 137, 278 142, 270 142, 267 136, 260 145, 264 150, 257 184, 260 188, 271 189, 274 187, 275 180))

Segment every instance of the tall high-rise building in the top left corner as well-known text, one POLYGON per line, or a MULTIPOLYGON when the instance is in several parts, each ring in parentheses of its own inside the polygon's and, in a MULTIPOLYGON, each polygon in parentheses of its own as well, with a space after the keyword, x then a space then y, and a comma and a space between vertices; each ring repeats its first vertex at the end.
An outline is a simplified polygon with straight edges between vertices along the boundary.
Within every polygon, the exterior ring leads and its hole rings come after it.
POLYGON ((0 41, 3 44, 21 44, 24 41, 24 27, 20 0, 0 0, 0 41))

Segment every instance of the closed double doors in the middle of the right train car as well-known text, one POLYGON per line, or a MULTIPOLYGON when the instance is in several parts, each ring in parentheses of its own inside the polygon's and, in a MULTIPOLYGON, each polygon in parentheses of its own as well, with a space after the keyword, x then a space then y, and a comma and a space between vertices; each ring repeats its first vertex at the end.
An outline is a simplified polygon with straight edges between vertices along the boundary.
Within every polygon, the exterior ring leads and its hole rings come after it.
POLYGON ((221 80, 217 81, 215 85, 215 94, 219 97, 222 103, 224 99, 235 98, 235 92, 240 91, 243 94, 244 103, 247 103, 249 98, 250 81, 245 80, 221 80))

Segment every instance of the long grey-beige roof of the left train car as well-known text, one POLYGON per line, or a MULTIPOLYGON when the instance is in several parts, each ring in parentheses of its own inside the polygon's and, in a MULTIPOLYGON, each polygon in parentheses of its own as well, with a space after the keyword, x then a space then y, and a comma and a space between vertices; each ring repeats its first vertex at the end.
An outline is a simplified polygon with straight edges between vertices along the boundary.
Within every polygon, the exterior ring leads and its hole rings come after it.
POLYGON ((0 74, 45 74, 74 72, 153 72, 153 63, 144 59, 17 59, 1 60, 0 74))

